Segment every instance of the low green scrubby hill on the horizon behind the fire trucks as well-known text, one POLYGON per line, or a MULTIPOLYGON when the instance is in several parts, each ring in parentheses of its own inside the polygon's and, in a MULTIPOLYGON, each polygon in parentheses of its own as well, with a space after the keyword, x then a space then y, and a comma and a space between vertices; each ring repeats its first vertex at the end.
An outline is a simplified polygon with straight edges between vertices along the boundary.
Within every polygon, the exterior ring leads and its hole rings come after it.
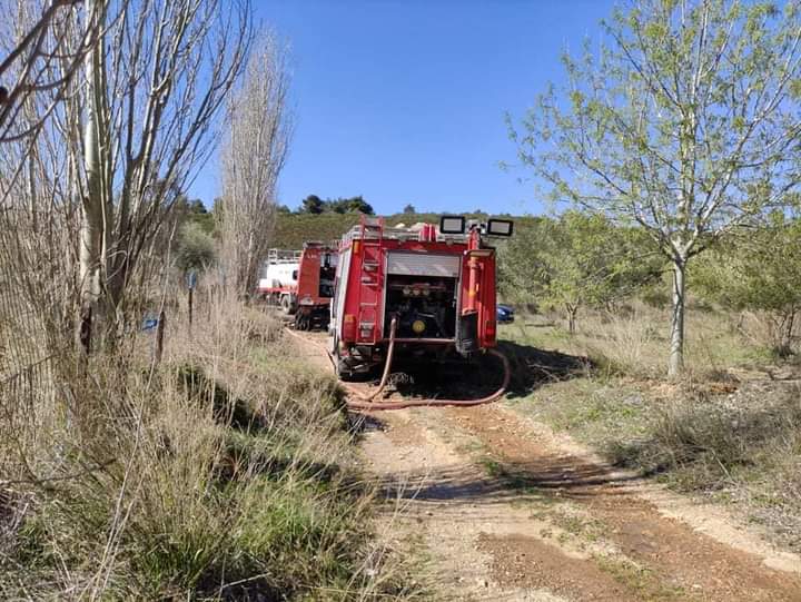
MULTIPOLYGON (((405 224, 411 226, 417 221, 438 224, 442 214, 394 214, 385 216, 387 226, 405 224)), ((462 214, 468 218, 486 219, 487 215, 462 214)), ((270 246, 283 249, 299 249, 307 240, 329 243, 338 240, 353 226, 359 223, 362 215, 350 214, 278 214, 276 229, 270 246)), ((517 224, 526 223, 532 217, 512 217, 517 224)))

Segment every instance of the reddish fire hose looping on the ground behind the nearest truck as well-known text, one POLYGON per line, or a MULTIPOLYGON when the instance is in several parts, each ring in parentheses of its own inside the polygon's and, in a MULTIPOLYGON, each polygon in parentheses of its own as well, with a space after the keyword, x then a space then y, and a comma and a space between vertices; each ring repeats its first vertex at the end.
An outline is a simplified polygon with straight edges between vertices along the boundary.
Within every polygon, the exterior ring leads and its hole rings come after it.
MULTIPOLYGON (((363 395, 358 391, 355 391, 354 388, 352 388, 347 385, 343 385, 350 394, 350 397, 346 402, 348 409, 378 411, 378 409, 404 409, 406 407, 426 407, 426 406, 469 407, 469 406, 474 406, 474 405, 483 405, 483 404, 488 404, 488 403, 495 402, 501 396, 503 396, 504 393, 506 393, 506 388, 508 387, 510 381, 512 378, 512 367, 510 365, 508 358, 504 354, 498 352, 497 349, 488 349, 490 354, 492 354, 501 359, 501 362, 503 363, 503 367, 504 367, 504 378, 503 378, 503 383, 501 384, 501 387, 490 395, 479 397, 478 399, 404 399, 400 402, 373 402, 373 399, 375 397, 377 397, 384 391, 384 387, 386 387, 387 381, 389 379, 389 374, 392 372, 393 356, 395 353, 396 326, 397 326, 396 318, 393 318, 393 320, 389 325, 389 346, 387 348, 387 357, 386 357, 386 362, 384 364, 384 372, 382 374, 380 382, 378 383, 378 387, 369 395, 363 395)), ((293 330, 287 329, 287 332, 304 342, 308 342, 306 338, 298 335, 297 333, 294 333, 293 330)), ((313 344, 318 345, 317 343, 313 343, 313 344)), ((322 347, 322 345, 318 345, 318 346, 322 347)), ((326 352, 326 355, 328 355, 328 359, 330 359, 330 362, 334 363, 334 358, 328 353, 328 349, 325 349, 325 352, 326 352)))

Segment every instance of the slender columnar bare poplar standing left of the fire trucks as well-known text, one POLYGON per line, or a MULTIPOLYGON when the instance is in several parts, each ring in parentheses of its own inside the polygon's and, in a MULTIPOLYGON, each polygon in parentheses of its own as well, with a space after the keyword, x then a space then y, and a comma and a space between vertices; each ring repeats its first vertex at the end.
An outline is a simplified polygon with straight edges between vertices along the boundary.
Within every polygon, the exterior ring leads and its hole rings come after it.
POLYGON ((288 88, 286 47, 265 33, 229 103, 221 150, 221 255, 226 283, 238 295, 256 286, 273 234, 276 186, 291 134, 288 88))

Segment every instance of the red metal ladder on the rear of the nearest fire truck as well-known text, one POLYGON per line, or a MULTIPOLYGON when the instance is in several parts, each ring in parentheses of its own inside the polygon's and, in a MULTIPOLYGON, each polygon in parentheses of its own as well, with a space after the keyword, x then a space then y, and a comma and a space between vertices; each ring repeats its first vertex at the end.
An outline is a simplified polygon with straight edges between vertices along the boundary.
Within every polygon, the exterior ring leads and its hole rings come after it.
POLYGON ((378 307, 382 296, 383 266, 382 241, 384 240, 384 218, 363 217, 360 228, 362 273, 359 275, 359 338, 376 343, 382 337, 383 325, 378 322, 378 307))

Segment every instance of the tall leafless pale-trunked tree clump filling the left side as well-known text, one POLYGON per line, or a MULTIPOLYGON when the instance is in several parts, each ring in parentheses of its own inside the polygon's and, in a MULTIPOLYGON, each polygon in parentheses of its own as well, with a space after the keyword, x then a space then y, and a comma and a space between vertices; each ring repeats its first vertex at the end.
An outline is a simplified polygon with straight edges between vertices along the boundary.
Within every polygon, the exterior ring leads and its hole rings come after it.
MULTIPOLYGON (((251 39, 236 0, 56 4, 38 52, 57 50, 29 61, 41 86, 14 83, 24 52, 3 71, 4 100, 16 96, 0 127, 0 440, 27 478, 58 466, 65 430, 91 441, 99 406, 87 392, 108 402, 112 378, 76 373, 75 333, 88 348, 92 316, 108 317, 96 334, 117 334, 135 303, 152 303, 169 238, 157 234, 218 139, 251 39)), ((17 48, 39 4, 0 7, 21 16, 0 19, 0 43, 17 48)))

